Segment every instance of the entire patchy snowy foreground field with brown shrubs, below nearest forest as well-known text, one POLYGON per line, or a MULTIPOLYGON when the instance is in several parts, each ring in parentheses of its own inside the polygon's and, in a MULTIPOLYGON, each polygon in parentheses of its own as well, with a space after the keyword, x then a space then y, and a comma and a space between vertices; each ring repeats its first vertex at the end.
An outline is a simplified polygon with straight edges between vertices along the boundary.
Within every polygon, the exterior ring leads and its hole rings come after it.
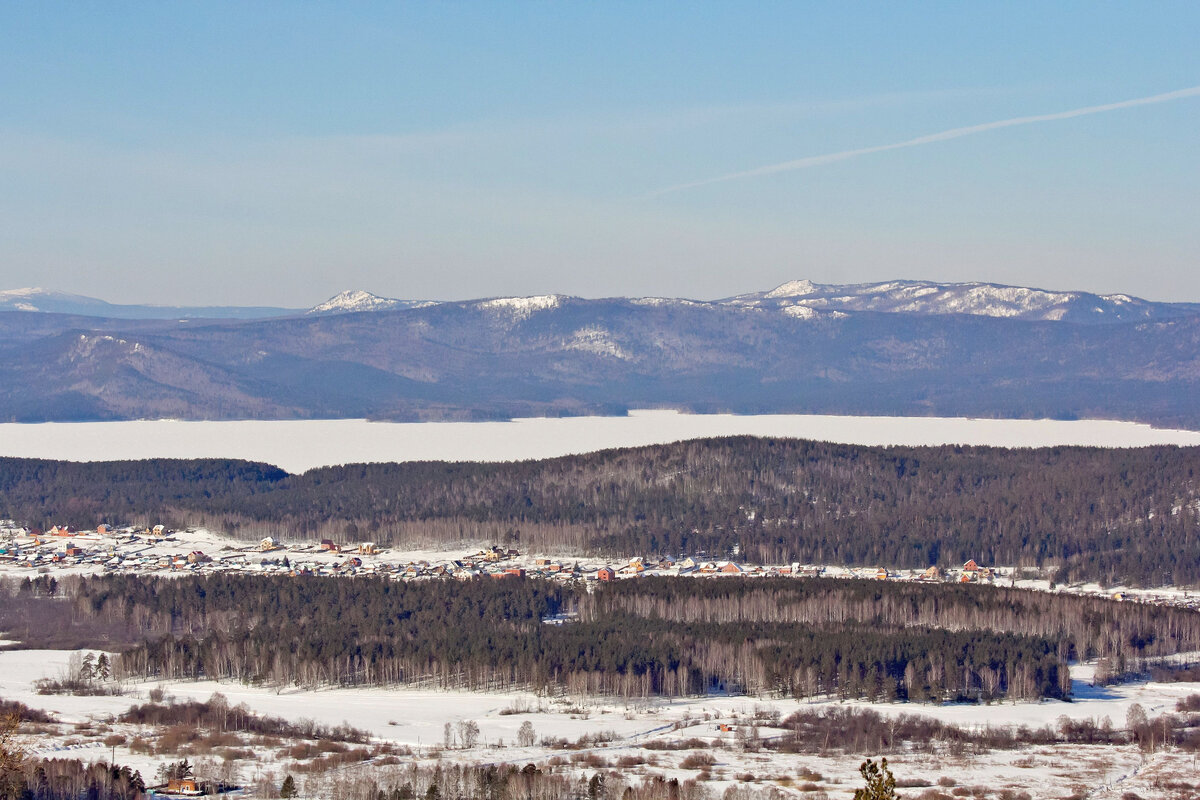
MULTIPOLYGON (((214 692, 221 692, 230 705, 245 703, 259 714, 282 716, 290 721, 312 718, 328 724, 349 722, 370 730, 377 741, 412 747, 410 758, 425 763, 431 758, 442 758, 523 765, 530 762, 545 764, 556 758, 560 759, 558 763, 563 763, 564 756, 571 756, 572 760, 560 769, 576 770, 584 776, 587 770, 595 769, 587 763, 578 763, 578 751, 564 753, 544 744, 517 746, 517 729, 522 722, 528 721, 539 739, 575 740, 586 734, 606 735, 608 741, 589 747, 588 752, 601 757, 610 765, 629 759, 634 759, 629 762, 631 764, 642 763, 628 768, 631 774, 688 780, 696 777, 696 771, 683 764, 683 758, 691 751, 652 751, 646 745, 655 740, 700 736, 716 745, 710 751, 716 757, 716 764, 707 777, 715 798, 721 796, 721 792, 731 786, 746 783, 749 778, 745 776, 752 775, 754 788, 775 786, 782 790, 784 796, 848 799, 858 783, 856 770, 862 760, 858 756, 835 752, 787 754, 743 750, 734 733, 718 729, 720 723, 734 728, 745 727, 757 717, 762 726, 761 735, 770 738, 780 733, 769 722, 772 711, 779 711, 786 717, 797 709, 811 709, 833 700, 704 697, 619 702, 583 697, 545 698, 518 692, 473 693, 419 688, 278 691, 214 681, 134 682, 127 685, 126 693, 120 697, 36 694, 32 682, 42 676, 60 675, 68 657, 70 654, 65 651, 0 652, 0 697, 19 699, 30 706, 53 711, 64 723, 77 723, 74 727, 68 726, 62 736, 43 736, 30 742, 30 750, 38 756, 107 758, 108 748, 79 734, 80 728, 89 721, 97 723, 120 714, 131 704, 145 702, 150 690, 162 687, 168 696, 180 700, 205 700, 214 692), (443 751, 443 726, 461 720, 473 720, 479 724, 479 744, 469 750, 455 747, 443 751), (821 776, 818 780, 823 795, 788 783, 788 776, 812 772, 821 776)), ((872 708, 884 715, 922 714, 972 728, 1014 723, 1054 726, 1061 716, 1096 721, 1108 717, 1116 727, 1122 727, 1124 715, 1133 703, 1140 703, 1151 716, 1157 716, 1172 711, 1180 698, 1198 690, 1195 684, 1154 682, 1094 688, 1088 682, 1091 670, 1086 666, 1073 670, 1073 678, 1078 698, 1074 703, 1048 700, 986 706, 883 704, 872 708)), ((144 730, 112 722, 106 729, 124 732, 130 736, 144 734, 144 730)), ((154 774, 160 763, 169 760, 166 756, 134 752, 124 746, 118 746, 115 754, 119 763, 130 764, 148 775, 154 774)), ((1195 796, 1160 792, 1159 788, 1177 778, 1200 780, 1190 754, 1160 752, 1145 756, 1132 746, 1030 746, 976 756, 896 753, 889 760, 898 776, 910 782, 918 781, 910 786, 937 787, 936 781, 952 776, 953 782, 942 786, 956 786, 954 796, 984 796, 974 788, 985 786, 996 793, 992 796, 1088 796, 1120 800, 1133 790, 1138 796, 1151 800, 1195 796), (1008 794, 998 794, 1001 788, 1007 788, 1008 794)), ((264 752, 238 769, 242 780, 252 781, 264 771, 278 775, 289 768, 277 760, 277 757, 264 752)), ((919 792, 908 789, 904 796, 916 798, 919 792)), ((946 788, 944 792, 949 793, 950 789, 946 788)))

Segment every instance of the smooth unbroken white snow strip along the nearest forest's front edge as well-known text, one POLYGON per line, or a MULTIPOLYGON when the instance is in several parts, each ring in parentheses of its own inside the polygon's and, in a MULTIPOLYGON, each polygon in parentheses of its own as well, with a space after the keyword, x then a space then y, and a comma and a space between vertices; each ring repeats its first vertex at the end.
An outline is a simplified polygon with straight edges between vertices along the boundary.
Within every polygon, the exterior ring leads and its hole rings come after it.
MULTIPOLYGON (((67 721, 82 721, 90 714, 118 714, 131 704, 145 702, 149 691, 162 687, 180 699, 208 699, 214 692, 224 694, 230 704, 245 703, 258 714, 289 720, 312 718, 335 726, 349 722, 373 735, 406 745, 436 745, 442 741, 445 722, 474 720, 480 726, 481 741, 514 741, 521 722, 529 720, 539 736, 578 739, 584 734, 611 733, 620 739, 644 734, 683 720, 708 715, 716 721, 736 721, 756 711, 778 710, 787 716, 799 709, 814 709, 838 700, 796 700, 756 697, 689 697, 682 699, 618 700, 595 697, 546 698, 528 692, 468 692, 408 687, 385 688, 271 688, 246 686, 232 681, 146 681, 131 684, 121 697, 40 696, 34 681, 54 678, 66 668, 70 651, 0 651, 0 697, 62 715, 67 721), (515 708, 522 714, 502 714, 515 708)), ((917 714, 961 727, 1055 724, 1058 717, 1097 720, 1109 717, 1114 726, 1124 724, 1129 706, 1139 703, 1151 716, 1175 710, 1175 704, 1200 693, 1195 684, 1133 682, 1093 687, 1091 664, 1072 667, 1074 702, 994 703, 990 705, 922 703, 845 702, 845 705, 871 708, 886 715, 917 714)))

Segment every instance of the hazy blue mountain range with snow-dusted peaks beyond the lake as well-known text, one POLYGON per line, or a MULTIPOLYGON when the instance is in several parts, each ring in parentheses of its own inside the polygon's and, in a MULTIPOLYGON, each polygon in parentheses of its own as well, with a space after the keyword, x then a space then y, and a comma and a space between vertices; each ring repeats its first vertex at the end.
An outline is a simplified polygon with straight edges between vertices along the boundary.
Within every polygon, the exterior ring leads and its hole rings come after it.
POLYGON ((1198 389, 1200 306, 988 283, 796 281, 715 301, 348 291, 307 311, 0 293, 2 420, 671 407, 1200 428, 1198 389))

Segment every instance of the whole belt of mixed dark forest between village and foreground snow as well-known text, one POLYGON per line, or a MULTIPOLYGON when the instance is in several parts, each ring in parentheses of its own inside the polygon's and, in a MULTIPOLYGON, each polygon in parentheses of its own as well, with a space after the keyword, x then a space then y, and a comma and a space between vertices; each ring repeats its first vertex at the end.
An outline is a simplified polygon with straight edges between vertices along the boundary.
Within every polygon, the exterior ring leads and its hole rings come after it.
MULTIPOLYGON (((125 676, 274 685, 1038 698, 1069 693, 1070 657, 1133 664, 1200 649, 1194 612, 946 584, 646 579, 589 594, 520 578, 212 575, 44 588, 23 583, 13 613, 55 603, 60 625, 124 626, 125 676), (544 622, 564 610, 578 621, 544 622)), ((54 636, 35 631, 30 646, 40 633, 54 636)))

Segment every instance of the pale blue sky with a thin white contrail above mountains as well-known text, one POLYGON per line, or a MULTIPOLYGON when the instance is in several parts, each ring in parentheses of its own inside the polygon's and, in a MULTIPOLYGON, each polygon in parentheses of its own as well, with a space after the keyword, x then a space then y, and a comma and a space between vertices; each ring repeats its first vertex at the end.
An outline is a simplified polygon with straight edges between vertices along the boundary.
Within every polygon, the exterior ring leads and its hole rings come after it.
POLYGON ((1198 42, 1190 1, 0 4, 0 288, 1200 301, 1198 42))

